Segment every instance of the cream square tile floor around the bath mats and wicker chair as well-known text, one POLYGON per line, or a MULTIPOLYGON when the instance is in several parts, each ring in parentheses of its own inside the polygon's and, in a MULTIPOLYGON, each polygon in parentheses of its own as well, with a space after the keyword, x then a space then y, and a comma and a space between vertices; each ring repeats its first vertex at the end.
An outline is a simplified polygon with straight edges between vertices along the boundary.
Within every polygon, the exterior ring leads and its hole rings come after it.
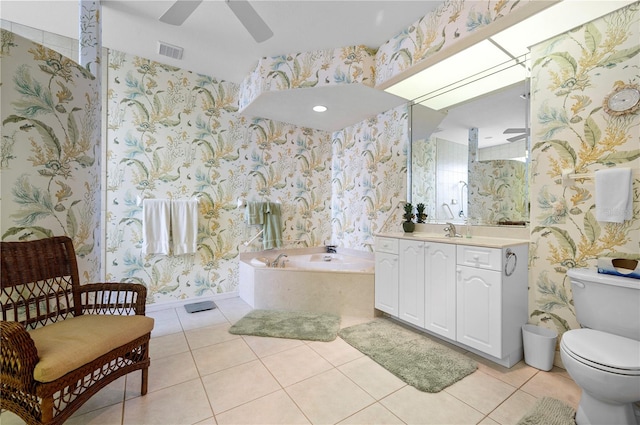
MULTIPOLYGON (((543 396, 574 408, 580 389, 560 368, 511 369, 469 354, 476 372, 435 393, 400 381, 337 338, 305 342, 241 337, 229 326, 250 311, 239 298, 194 314, 149 313, 149 392, 140 373, 115 381, 67 424, 515 424, 543 396)), ((343 317, 342 326, 365 319, 343 317)), ((2 425, 20 424, 4 412, 2 425)))

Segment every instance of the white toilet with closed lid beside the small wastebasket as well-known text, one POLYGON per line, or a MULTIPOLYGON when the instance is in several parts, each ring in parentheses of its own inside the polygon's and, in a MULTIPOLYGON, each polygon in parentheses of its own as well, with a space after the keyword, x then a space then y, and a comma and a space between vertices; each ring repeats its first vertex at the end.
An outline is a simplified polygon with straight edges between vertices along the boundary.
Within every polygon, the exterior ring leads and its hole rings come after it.
POLYGON ((578 425, 640 425, 640 280, 571 269, 581 329, 565 332, 560 356, 582 389, 578 425))

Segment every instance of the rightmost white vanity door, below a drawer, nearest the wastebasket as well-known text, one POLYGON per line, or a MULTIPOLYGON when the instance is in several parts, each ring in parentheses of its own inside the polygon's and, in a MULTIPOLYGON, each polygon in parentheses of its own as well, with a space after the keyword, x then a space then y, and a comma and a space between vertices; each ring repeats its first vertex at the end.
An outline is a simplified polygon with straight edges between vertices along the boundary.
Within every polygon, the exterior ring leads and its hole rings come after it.
POLYGON ((502 358, 501 273, 458 266, 457 341, 502 358))

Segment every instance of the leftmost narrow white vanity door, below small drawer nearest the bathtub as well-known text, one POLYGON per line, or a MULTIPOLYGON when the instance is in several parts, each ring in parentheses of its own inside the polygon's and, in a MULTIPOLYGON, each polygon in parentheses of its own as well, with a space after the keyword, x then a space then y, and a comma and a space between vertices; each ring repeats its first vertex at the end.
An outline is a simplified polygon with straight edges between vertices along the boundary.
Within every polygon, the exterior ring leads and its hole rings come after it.
POLYGON ((375 308, 398 317, 398 239, 376 238, 375 308))

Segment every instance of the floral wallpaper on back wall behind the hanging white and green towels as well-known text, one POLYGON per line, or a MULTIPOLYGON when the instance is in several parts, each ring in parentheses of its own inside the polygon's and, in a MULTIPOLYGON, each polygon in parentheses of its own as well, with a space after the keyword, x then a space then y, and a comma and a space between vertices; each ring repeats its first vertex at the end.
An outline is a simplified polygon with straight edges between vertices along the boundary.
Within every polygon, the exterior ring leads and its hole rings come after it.
POLYGON ((286 247, 331 238, 330 134, 238 113, 236 84, 111 51, 107 278, 142 282, 149 303, 233 292, 238 254, 261 250, 237 199, 282 202, 286 247), (198 250, 142 253, 141 200, 199 199, 198 250))

